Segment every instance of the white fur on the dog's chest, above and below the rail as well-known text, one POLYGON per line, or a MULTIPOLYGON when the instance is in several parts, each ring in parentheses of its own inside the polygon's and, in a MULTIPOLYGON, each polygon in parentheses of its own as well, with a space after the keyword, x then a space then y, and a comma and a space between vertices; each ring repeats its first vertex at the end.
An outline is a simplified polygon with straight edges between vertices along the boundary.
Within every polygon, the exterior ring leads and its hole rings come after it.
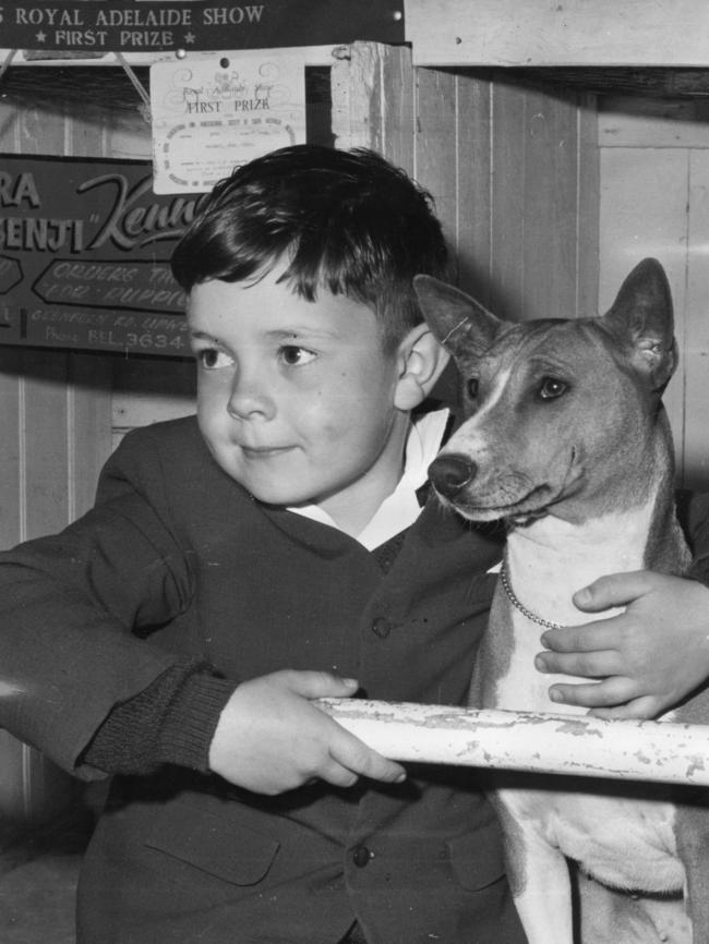
MULTIPOLYGON (((534 655, 542 649, 542 620, 572 625, 609 616, 608 612, 597 616, 580 613, 572 595, 601 574, 642 567, 641 550, 628 543, 628 534, 647 529, 645 517, 640 512, 623 521, 599 523, 580 540, 574 534, 569 541, 570 529, 554 521, 540 522, 541 529, 532 525, 521 537, 510 535, 508 591, 498 583, 482 655, 486 665, 480 666, 482 678, 490 673, 497 676, 491 685, 488 675, 484 707, 586 713, 586 709, 561 707, 549 699, 553 682, 574 679, 543 675, 534 668, 534 655), (541 530, 540 542, 532 540, 534 528, 541 530), (609 542, 609 529, 623 541, 609 542)), ((552 778, 546 786, 540 791, 505 789, 497 796, 507 814, 539 842, 561 849, 603 883, 657 893, 682 888, 684 869, 676 855, 675 812, 670 803, 638 803, 604 796, 597 787, 588 792, 582 787, 564 792, 555 789, 552 778)))

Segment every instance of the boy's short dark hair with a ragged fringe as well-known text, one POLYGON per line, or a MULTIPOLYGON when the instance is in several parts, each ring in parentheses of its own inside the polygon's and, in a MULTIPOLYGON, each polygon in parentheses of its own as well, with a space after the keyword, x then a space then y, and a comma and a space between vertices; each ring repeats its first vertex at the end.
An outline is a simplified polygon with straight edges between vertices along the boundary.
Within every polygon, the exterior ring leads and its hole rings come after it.
POLYGON ((172 273, 189 292, 262 275, 281 258, 281 280, 302 298, 325 288, 369 305, 388 352, 422 320, 413 276, 448 275, 430 194, 364 148, 297 145, 235 170, 201 205, 172 273))

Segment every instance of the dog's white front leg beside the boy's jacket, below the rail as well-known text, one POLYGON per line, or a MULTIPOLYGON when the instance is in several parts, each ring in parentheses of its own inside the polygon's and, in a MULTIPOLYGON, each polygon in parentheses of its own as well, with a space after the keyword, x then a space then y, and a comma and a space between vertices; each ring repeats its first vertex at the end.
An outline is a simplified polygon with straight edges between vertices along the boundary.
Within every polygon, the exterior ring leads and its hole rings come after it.
POLYGON ((503 801, 507 875, 529 944, 573 944, 572 885, 566 857, 538 821, 517 819, 503 801))

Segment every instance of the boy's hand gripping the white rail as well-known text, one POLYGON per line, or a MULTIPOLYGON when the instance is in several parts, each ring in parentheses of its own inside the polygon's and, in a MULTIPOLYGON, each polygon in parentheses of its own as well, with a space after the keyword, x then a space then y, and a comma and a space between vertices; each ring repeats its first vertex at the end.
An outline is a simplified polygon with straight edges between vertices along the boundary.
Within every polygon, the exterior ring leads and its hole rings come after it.
POLYGON ((398 783, 402 766, 386 760, 314 704, 351 698, 358 683, 320 671, 276 671, 239 686, 209 748, 209 766, 257 794, 285 792, 313 779, 351 787, 359 776, 398 783))

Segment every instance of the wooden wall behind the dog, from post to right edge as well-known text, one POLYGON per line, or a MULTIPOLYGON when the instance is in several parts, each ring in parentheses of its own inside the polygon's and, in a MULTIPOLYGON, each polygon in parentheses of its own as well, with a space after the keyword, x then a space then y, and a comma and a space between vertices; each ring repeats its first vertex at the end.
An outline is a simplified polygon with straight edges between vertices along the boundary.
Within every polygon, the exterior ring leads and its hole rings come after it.
POLYGON ((373 146, 431 190, 460 287, 505 317, 603 312, 637 262, 660 258, 681 351, 665 395, 678 481, 708 489, 706 106, 604 98, 597 113, 592 97, 407 57, 356 45, 337 62, 338 144, 373 146))

